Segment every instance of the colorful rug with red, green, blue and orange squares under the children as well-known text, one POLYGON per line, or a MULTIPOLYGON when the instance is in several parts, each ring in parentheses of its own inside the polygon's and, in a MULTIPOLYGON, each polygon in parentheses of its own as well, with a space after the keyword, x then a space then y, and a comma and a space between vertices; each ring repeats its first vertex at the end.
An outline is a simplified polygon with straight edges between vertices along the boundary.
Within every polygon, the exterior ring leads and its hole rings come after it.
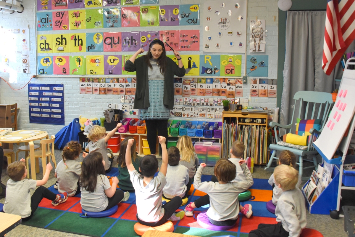
MULTIPOLYGON (((118 168, 112 168, 111 172, 107 175, 109 177, 117 176, 118 168)), ((202 175, 201 179, 202 181, 209 181, 211 180, 211 176, 202 175)), ((254 179, 254 185, 249 190, 252 196, 255 196, 255 199, 241 202, 241 205, 245 205, 246 203, 252 205, 253 215, 250 219, 247 219, 245 216, 239 214, 239 220, 235 227, 229 231, 206 230, 198 225, 193 217, 185 216, 182 220, 173 222, 175 226, 174 232, 204 237, 221 235, 247 237, 248 233, 256 229, 260 223, 277 223, 276 216, 266 210, 266 202, 271 200, 272 196, 272 187, 267 181, 267 179, 254 179)), ((49 189, 54 193, 58 193, 58 190, 54 189, 53 186, 49 189)), ((190 194, 188 203, 195 201, 205 193, 194 189, 192 186, 190 194)), ((87 236, 133 237, 138 236, 133 230, 133 225, 137 222, 137 207, 135 203, 135 193, 130 193, 129 200, 120 203, 115 214, 104 218, 82 218, 79 216, 81 214, 80 194, 68 198, 65 203, 58 206, 53 206, 50 200, 43 199, 33 217, 28 221, 23 221, 22 224, 87 236)), ((184 208, 185 206, 181 206, 181 210, 184 210, 184 208)), ((195 211, 200 212, 206 209, 198 208, 195 211)))

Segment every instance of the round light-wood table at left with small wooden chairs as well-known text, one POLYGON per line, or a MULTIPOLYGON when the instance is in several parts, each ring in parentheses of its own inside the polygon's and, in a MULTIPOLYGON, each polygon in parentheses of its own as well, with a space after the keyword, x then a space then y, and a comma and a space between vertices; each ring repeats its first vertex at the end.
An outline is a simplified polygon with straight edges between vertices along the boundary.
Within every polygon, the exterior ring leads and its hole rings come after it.
MULTIPOLYGON (((39 131, 39 130, 32 130, 32 131, 39 131)), ((15 132, 15 131, 13 131, 15 132)), ((41 140, 43 138, 48 139, 48 133, 44 132, 38 135, 34 135, 31 136, 30 138, 26 138, 23 140, 4 140, 4 139, 0 139, 0 142, 2 143, 17 143, 17 142, 24 142, 25 145, 29 145, 29 157, 31 160, 31 178, 36 180, 36 171, 39 172, 39 164, 38 162, 35 162, 35 158, 34 158, 34 145, 33 145, 33 141, 37 141, 37 140, 41 140)), ((49 149, 49 146, 48 146, 49 149)), ((28 156, 28 152, 26 152, 26 157, 28 156)), ((43 170, 45 170, 45 165, 42 164, 42 168, 43 170)), ((28 171, 27 171, 28 172, 28 171)), ((44 172, 43 172, 44 175, 44 172)))

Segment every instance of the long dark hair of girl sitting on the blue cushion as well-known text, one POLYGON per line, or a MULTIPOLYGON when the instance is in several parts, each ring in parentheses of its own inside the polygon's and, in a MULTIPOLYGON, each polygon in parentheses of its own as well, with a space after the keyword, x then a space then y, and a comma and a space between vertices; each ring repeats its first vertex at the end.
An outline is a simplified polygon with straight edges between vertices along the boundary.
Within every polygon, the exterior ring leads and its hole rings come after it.
POLYGON ((95 191, 97 175, 105 175, 105 167, 102 159, 100 152, 91 152, 84 158, 81 165, 80 187, 85 188, 89 193, 95 191))

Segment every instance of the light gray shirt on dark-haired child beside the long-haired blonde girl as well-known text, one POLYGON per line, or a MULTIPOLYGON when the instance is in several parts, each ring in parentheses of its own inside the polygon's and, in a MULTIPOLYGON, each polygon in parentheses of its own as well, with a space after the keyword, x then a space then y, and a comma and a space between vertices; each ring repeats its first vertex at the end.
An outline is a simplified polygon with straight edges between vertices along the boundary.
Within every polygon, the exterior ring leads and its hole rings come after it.
POLYGON ((186 184, 189 183, 189 169, 183 165, 170 166, 166 171, 166 185, 163 188, 163 194, 166 198, 185 196, 186 184))

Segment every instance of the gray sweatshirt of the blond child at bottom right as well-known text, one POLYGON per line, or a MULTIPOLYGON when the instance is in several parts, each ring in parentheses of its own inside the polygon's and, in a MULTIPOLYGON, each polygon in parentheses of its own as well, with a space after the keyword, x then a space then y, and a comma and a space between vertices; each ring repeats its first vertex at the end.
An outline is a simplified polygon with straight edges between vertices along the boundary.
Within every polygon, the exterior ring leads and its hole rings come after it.
POLYGON ((290 237, 299 237, 306 228, 306 204, 298 188, 282 192, 275 209, 276 221, 281 222, 290 237))

